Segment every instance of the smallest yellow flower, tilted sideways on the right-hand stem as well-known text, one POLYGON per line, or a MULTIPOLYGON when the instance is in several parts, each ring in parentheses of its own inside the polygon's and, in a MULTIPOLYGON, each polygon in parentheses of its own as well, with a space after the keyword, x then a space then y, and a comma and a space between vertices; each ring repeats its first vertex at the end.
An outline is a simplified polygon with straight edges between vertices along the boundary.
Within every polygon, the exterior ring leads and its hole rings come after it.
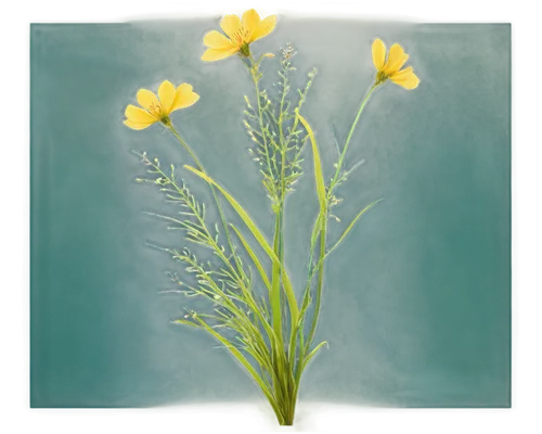
POLYGON ((376 82, 390 80, 404 89, 412 90, 420 85, 420 78, 414 74, 412 66, 401 69, 409 60, 403 48, 393 43, 386 53, 386 46, 380 38, 376 38, 371 46, 373 65, 376 68, 376 82))

